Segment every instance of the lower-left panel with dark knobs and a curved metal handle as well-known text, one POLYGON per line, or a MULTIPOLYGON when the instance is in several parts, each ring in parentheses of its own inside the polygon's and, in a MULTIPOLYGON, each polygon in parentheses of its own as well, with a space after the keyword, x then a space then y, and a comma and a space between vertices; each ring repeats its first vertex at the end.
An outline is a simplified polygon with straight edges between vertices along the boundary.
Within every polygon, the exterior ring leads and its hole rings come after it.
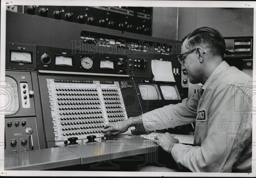
POLYGON ((39 149, 37 123, 35 117, 6 118, 6 154, 18 154, 39 149))

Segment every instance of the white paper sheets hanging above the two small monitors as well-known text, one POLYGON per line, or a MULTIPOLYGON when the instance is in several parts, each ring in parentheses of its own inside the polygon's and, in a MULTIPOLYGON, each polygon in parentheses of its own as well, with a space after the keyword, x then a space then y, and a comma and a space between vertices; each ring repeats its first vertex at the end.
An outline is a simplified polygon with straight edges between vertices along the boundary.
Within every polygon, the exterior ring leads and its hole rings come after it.
POLYGON ((151 68, 155 81, 175 82, 172 62, 152 60, 151 68))

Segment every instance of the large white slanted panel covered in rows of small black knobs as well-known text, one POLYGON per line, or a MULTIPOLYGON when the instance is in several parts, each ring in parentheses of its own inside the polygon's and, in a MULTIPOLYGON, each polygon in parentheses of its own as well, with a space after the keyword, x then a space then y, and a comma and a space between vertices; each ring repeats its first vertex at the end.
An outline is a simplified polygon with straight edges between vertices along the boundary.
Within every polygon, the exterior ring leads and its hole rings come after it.
POLYGON ((59 79, 46 82, 56 145, 64 144, 70 137, 101 138, 105 124, 128 119, 118 82, 59 79))

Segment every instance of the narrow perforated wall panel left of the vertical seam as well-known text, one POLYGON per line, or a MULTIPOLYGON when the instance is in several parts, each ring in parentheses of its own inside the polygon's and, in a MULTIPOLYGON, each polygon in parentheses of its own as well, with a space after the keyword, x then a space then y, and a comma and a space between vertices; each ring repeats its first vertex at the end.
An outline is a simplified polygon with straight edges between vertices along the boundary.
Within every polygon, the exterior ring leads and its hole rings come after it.
POLYGON ((177 7, 153 7, 152 36, 176 39, 177 7))

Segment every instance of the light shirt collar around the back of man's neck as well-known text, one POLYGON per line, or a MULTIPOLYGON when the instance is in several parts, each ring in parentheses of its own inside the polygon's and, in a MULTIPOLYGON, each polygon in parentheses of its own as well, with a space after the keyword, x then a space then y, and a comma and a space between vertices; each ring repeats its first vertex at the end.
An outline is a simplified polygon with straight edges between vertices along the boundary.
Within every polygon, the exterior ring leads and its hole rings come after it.
POLYGON ((212 72, 210 77, 207 79, 205 84, 202 86, 204 90, 210 90, 213 86, 215 86, 219 77, 229 68, 229 65, 226 61, 222 61, 220 65, 212 72))

